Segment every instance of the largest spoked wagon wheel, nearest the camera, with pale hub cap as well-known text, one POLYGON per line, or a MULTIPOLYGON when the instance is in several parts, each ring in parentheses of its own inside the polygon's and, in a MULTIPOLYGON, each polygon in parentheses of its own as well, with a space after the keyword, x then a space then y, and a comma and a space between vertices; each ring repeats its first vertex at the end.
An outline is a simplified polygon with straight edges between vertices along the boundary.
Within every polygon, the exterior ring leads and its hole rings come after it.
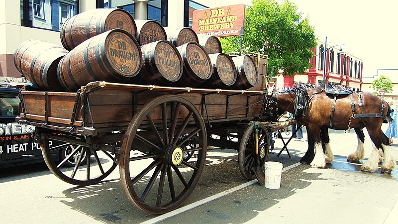
POLYGON ((178 96, 158 97, 134 115, 125 136, 125 167, 119 167, 128 199, 151 214, 176 209, 198 184, 206 159, 206 129, 197 108, 178 96), (198 144, 184 147, 197 135, 198 144), (198 156, 184 161, 190 151, 198 156))

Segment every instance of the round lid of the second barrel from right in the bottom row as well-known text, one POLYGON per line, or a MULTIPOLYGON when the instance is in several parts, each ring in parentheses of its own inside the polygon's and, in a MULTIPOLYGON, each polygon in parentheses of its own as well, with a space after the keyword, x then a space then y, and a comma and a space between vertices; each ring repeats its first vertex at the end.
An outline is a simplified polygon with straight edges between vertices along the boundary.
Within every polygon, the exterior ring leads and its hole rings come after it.
POLYGON ((219 78, 225 85, 230 86, 235 83, 235 64, 233 63, 231 57, 229 57, 227 54, 217 54, 215 70, 219 78))

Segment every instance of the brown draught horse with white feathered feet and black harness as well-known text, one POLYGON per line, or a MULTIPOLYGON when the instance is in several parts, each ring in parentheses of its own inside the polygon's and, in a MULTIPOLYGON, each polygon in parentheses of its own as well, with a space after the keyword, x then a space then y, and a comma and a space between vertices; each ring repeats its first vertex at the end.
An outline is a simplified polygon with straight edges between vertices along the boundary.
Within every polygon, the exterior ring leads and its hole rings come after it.
POLYGON ((391 152, 390 141, 381 129, 383 122, 392 120, 387 102, 369 92, 351 92, 346 96, 334 97, 325 92, 325 85, 318 85, 308 89, 305 86, 298 86, 295 90, 273 94, 271 103, 278 109, 273 109, 274 113, 280 115, 291 112, 307 129, 308 150, 300 162, 310 164, 314 168, 324 168, 326 163, 333 161, 329 128, 335 130, 354 128, 358 146, 348 155, 347 160, 364 159, 363 128, 366 127, 372 140, 373 150, 368 160, 361 166, 361 170, 376 171, 379 162, 383 160, 381 172, 391 173, 396 167, 396 161, 391 152))

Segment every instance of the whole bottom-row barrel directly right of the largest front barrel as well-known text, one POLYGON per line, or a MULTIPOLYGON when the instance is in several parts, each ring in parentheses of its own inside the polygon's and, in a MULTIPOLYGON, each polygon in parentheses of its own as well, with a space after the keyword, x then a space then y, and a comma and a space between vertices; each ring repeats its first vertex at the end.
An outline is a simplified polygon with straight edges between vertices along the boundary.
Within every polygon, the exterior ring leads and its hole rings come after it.
POLYGON ((183 62, 177 48, 167 40, 141 46, 142 68, 132 83, 170 85, 183 74, 183 62))

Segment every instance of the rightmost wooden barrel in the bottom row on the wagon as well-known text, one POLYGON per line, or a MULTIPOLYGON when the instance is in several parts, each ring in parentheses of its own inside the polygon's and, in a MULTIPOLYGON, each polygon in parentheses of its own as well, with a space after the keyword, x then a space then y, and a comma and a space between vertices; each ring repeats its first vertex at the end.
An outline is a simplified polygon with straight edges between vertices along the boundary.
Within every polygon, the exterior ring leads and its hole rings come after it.
POLYGON ((246 90, 258 83, 257 66, 249 55, 232 57, 235 63, 237 79, 233 89, 246 90))

